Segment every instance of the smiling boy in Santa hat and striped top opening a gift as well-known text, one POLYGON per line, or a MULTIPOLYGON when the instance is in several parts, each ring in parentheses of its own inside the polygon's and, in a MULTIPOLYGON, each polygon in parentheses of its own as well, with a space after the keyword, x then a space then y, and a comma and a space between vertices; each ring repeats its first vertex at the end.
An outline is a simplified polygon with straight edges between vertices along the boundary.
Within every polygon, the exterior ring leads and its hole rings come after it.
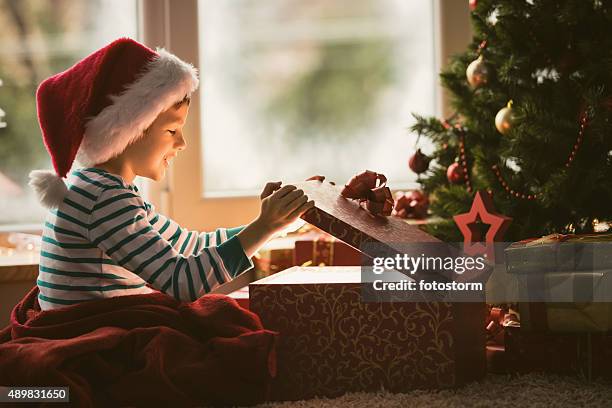
POLYGON ((252 223, 200 233, 142 199, 134 178, 160 180, 185 148, 197 86, 193 66, 127 38, 41 83, 38 120, 55 169, 30 174, 51 210, 37 281, 41 309, 150 293, 147 283, 195 300, 250 269, 257 249, 313 206, 294 186, 268 183, 252 223), (82 167, 66 186, 75 160, 82 167))

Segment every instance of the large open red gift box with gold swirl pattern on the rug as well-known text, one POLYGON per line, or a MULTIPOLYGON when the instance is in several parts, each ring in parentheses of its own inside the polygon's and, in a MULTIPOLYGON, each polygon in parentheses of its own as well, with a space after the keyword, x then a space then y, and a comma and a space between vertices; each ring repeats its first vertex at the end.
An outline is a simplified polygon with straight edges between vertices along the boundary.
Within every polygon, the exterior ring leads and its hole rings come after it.
POLYGON ((486 372, 484 303, 367 302, 360 267, 293 267, 249 285, 280 333, 272 397, 447 388, 486 372))

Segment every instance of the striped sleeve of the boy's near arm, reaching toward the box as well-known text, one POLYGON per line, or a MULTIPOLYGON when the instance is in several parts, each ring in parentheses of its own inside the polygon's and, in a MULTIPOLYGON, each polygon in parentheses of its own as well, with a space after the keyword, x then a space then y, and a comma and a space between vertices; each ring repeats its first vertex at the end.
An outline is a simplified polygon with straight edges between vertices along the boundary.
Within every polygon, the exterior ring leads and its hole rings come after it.
POLYGON ((198 234, 169 221, 160 233, 168 220, 148 213, 150 205, 128 192, 102 192, 91 212, 89 239, 151 286, 176 299, 192 301, 253 266, 236 236, 240 229, 198 234))

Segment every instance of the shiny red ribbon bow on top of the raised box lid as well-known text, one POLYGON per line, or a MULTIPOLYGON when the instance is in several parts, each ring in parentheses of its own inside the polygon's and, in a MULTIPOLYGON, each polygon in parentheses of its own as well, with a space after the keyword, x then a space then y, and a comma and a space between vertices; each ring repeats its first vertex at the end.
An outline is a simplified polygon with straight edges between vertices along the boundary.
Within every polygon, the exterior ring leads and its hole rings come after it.
POLYGON ((353 176, 342 189, 343 197, 359 200, 359 205, 365 206, 372 215, 391 215, 393 196, 385 184, 387 178, 374 171, 366 170, 353 176))

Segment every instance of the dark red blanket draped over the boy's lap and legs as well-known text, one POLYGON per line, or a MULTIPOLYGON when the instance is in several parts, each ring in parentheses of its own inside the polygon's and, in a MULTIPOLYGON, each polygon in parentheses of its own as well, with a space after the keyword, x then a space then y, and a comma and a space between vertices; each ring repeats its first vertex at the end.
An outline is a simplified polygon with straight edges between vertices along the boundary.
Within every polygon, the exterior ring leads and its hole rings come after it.
POLYGON ((186 304, 152 293, 50 311, 37 296, 0 331, 0 385, 68 386, 82 407, 266 399, 277 333, 227 296, 186 304))

